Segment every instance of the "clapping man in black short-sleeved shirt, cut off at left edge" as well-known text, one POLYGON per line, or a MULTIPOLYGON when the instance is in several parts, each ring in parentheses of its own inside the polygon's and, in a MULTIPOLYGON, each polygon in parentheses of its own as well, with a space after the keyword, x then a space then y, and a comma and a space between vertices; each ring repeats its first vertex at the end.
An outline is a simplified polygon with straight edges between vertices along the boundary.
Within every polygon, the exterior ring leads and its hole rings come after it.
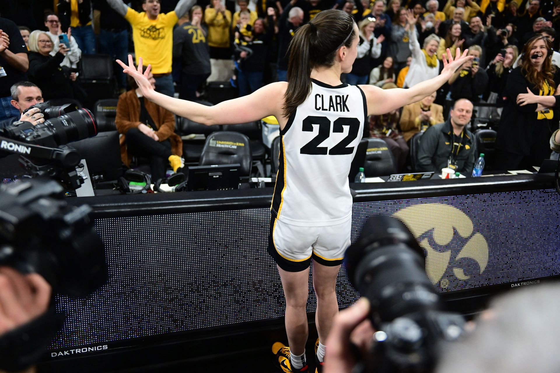
POLYGON ((17 25, 6 18, 0 18, 0 120, 19 115, 12 106, 10 87, 27 80, 25 72, 29 68, 27 47, 17 25))

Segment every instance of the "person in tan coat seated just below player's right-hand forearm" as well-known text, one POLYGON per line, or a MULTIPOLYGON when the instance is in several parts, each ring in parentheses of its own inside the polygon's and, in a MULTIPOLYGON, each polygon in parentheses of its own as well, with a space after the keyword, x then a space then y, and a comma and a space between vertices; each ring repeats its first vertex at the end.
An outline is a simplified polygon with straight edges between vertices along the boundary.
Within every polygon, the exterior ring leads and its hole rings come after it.
POLYGON ((444 122, 444 107, 433 103, 435 99, 436 92, 433 92, 430 96, 403 107, 399 124, 406 141, 410 140, 414 134, 444 122))

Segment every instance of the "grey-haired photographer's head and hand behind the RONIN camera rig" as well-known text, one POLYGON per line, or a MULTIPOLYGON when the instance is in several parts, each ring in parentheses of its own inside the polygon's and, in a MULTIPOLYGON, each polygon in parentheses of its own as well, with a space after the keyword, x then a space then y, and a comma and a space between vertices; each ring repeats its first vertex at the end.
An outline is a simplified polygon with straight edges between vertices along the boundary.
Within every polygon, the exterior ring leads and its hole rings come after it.
POLYGON ((43 102, 43 93, 41 89, 31 82, 18 82, 13 84, 10 88, 12 94, 12 101, 10 103, 13 107, 20 111, 19 116, 13 116, 8 119, 0 121, 0 129, 11 125, 18 120, 28 121, 32 124, 43 123, 45 120, 43 114, 37 107, 32 108, 30 111, 23 114, 28 107, 35 105, 38 102, 43 102))

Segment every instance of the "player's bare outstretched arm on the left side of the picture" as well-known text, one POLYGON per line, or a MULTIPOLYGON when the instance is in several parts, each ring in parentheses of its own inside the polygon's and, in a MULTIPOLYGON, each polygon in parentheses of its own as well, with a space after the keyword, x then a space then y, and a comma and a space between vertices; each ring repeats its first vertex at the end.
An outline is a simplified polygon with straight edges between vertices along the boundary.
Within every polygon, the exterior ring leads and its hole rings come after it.
POLYGON ((156 92, 147 79, 151 66, 148 65, 146 72, 142 73, 142 57, 139 58, 137 68, 134 67, 132 55, 128 55, 128 65, 120 60, 116 60, 116 62, 123 67, 124 73, 134 78, 144 97, 176 115, 197 123, 208 126, 240 124, 260 120, 270 115, 274 115, 278 119, 283 116, 282 103, 284 100, 282 98, 288 86, 286 82, 271 83, 248 96, 224 101, 214 106, 206 106, 156 92))

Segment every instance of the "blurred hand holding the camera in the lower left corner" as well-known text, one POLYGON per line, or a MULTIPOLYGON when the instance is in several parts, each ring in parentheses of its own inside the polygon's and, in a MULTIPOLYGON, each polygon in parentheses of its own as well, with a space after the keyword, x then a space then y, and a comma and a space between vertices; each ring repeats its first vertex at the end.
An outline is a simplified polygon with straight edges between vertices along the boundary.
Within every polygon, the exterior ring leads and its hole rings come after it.
POLYGON ((45 313, 50 285, 37 273, 22 275, 0 267, 0 335, 45 313))

